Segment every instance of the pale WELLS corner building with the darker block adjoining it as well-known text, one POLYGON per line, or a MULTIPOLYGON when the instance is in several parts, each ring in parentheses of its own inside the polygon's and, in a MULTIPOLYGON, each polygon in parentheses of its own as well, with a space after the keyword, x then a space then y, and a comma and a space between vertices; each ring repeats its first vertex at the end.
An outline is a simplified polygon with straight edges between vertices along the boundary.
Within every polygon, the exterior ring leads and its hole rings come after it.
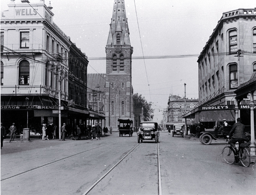
POLYGON ((27 126, 40 131, 43 123, 59 125, 60 95, 62 123, 82 125, 89 116, 87 57, 53 22, 51 4, 23 0, 8 7, 1 14, 3 124, 14 122, 20 131, 27 126))

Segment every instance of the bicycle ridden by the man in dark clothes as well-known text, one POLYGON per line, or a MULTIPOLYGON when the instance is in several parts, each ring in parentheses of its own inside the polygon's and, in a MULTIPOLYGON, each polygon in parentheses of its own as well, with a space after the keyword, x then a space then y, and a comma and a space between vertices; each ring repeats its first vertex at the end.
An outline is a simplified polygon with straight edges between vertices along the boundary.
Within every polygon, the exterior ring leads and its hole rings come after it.
MULTIPOLYGON (((228 141, 228 144, 230 144, 229 136, 227 136, 227 141, 228 141)), ((227 145, 222 150, 223 159, 228 164, 233 164, 235 161, 236 162, 240 161, 243 166, 249 167, 251 163, 251 159, 250 159, 250 154, 246 149, 246 147, 248 146, 249 146, 248 143, 239 142, 239 147, 237 151, 236 149, 233 148, 231 144, 227 145)))

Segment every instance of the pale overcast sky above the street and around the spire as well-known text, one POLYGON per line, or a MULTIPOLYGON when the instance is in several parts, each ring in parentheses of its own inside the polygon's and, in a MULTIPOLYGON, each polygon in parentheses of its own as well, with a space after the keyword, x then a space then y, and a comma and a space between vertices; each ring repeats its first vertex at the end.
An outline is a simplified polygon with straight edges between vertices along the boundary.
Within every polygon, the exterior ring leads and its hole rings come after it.
MULTIPOLYGON (((20 0, 16 0, 20 3, 20 0)), ((30 3, 39 0, 29 0, 30 3)), ((223 12, 254 8, 255 0, 124 0, 130 30, 132 57, 198 57, 223 12), (135 9, 136 8, 136 9, 135 9), (137 16, 136 16, 137 11, 137 16), (139 24, 139 25, 138 25, 139 24)), ((0 1, 1 11, 10 0, 0 1)), ((45 0, 49 5, 49 0, 45 0)), ((106 57, 114 0, 51 0, 53 21, 89 59, 88 73, 106 73, 106 57)), ((170 94, 198 98, 197 57, 132 60, 132 86, 155 109, 154 119, 163 119, 170 94), (159 112, 160 111, 160 112, 159 112)))

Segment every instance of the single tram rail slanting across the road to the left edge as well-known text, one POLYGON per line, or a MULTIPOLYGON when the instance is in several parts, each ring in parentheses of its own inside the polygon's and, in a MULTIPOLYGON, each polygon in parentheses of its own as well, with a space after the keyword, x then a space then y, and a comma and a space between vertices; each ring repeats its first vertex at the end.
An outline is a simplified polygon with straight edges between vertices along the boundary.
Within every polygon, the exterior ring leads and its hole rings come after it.
MULTIPOLYGON (((127 138, 124 138, 124 139, 127 139, 127 138)), ((106 146, 106 145, 109 145, 109 144, 113 144, 113 143, 115 143, 115 142, 122 141, 122 140, 124 140, 124 139, 120 139, 120 140, 117 140, 117 141, 114 141, 114 142, 111 142, 111 143, 108 143, 108 144, 104 144, 104 145, 101 145, 101 146, 98 146, 98 147, 95 147, 95 148, 92 148, 92 149, 88 149, 88 150, 85 150, 85 151, 83 151, 83 152, 78 152, 78 153, 75 153, 75 154, 70 155, 70 156, 68 156, 68 157, 60 158, 60 159, 58 159, 58 160, 52 161, 52 162, 50 162, 50 163, 46 163, 46 164, 41 165, 41 166, 38 166, 38 167, 36 167, 36 168, 32 168, 32 169, 29 169, 29 170, 27 170, 27 171, 23 171, 23 172, 21 172, 21 173, 15 174, 15 175, 13 175, 13 176, 10 176, 10 177, 1 179, 0 181, 4 181, 4 180, 10 179, 10 178, 19 176, 19 175, 21 175, 21 174, 28 173, 29 171, 33 171, 33 170, 35 170, 35 169, 42 168, 42 167, 44 167, 44 166, 47 166, 47 165, 56 163, 56 162, 58 162, 58 161, 65 160, 65 159, 67 159, 67 158, 70 158, 70 157, 73 157, 73 156, 76 156, 76 155, 79 155, 79 154, 82 154, 82 153, 85 153, 85 152, 88 152, 88 151, 91 151, 91 150, 95 150, 95 149, 104 147, 104 146, 106 146)))

